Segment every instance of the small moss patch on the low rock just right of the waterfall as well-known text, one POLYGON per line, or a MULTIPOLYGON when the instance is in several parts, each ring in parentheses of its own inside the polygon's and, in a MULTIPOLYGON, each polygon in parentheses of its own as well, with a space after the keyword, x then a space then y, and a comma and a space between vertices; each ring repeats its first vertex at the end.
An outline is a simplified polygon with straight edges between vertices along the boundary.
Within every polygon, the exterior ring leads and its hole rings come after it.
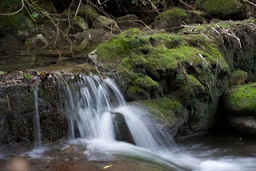
POLYGON ((174 98, 155 98, 145 101, 145 104, 150 108, 150 113, 163 120, 170 120, 170 118, 176 117, 176 114, 182 113, 182 104, 174 98))

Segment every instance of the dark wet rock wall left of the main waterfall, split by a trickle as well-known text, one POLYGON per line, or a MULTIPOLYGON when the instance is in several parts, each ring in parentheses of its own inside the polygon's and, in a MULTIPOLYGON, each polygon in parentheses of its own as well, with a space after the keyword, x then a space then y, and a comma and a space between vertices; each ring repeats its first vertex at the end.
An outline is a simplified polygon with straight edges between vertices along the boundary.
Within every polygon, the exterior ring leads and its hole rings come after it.
MULTIPOLYGON (((18 74, 9 76, 11 79, 1 76, 0 82, 0 143, 34 141, 36 80, 18 74)), ((54 80, 43 77, 41 81, 38 109, 42 141, 56 141, 66 136, 66 118, 58 110, 57 85, 54 80)))

